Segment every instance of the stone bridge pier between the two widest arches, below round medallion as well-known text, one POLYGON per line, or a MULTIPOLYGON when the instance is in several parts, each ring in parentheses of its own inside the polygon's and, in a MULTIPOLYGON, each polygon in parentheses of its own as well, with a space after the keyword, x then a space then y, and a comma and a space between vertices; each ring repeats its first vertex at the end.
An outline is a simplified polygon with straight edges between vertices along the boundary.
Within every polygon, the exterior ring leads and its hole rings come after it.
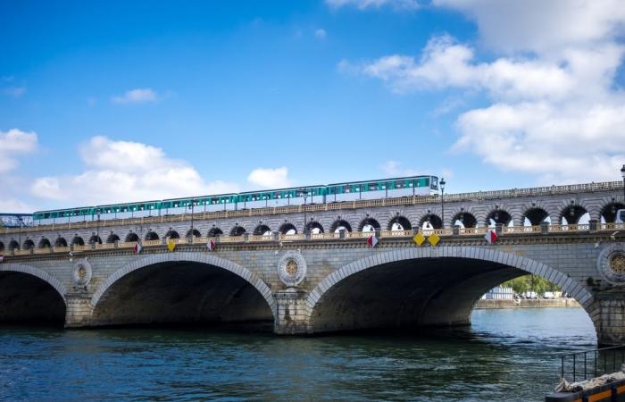
POLYGON ((280 335, 293 335, 308 331, 310 308, 306 305, 308 292, 295 288, 279 290, 274 293, 278 306, 278 317, 273 326, 280 335))

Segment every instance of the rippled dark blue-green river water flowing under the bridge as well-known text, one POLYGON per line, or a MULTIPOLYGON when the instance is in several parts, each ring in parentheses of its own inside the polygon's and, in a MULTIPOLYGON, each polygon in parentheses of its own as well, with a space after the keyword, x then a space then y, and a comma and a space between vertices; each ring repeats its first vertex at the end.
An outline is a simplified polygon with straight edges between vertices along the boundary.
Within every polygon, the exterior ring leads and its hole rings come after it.
POLYGON ((554 354, 592 348, 581 308, 476 310, 429 334, 0 328, 2 400, 542 400, 554 354))

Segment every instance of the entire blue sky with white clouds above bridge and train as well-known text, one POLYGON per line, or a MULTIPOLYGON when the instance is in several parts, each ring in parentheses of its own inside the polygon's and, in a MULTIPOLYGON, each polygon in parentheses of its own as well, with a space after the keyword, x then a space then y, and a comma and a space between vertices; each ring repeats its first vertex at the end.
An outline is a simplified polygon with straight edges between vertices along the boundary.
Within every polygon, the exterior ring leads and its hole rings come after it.
POLYGON ((621 5, 2 2, 0 209, 619 180, 621 5))

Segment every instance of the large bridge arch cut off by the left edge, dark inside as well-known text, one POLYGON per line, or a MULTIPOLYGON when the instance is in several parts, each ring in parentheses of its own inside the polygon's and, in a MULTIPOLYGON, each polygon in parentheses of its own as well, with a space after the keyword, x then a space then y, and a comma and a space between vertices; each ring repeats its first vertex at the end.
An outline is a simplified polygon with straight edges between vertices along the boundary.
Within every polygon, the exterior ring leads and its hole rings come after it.
POLYGON ((28 264, 0 264, 0 321, 63 325, 66 293, 48 272, 28 264))

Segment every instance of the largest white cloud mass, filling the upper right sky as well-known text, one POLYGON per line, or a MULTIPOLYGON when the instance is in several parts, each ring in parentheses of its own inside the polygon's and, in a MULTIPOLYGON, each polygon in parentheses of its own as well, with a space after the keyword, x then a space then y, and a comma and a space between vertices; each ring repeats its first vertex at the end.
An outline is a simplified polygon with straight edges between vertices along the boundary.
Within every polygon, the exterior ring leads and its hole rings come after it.
MULTIPOLYGON (((499 54, 432 38, 417 57, 390 54, 339 63, 398 93, 482 91, 490 105, 457 117, 456 151, 540 182, 614 180, 625 161, 625 93, 615 81, 625 57, 619 1, 435 0, 477 21, 499 54)), ((454 96, 458 96, 457 93, 454 96)), ((437 113, 434 113, 436 116, 437 113)))

